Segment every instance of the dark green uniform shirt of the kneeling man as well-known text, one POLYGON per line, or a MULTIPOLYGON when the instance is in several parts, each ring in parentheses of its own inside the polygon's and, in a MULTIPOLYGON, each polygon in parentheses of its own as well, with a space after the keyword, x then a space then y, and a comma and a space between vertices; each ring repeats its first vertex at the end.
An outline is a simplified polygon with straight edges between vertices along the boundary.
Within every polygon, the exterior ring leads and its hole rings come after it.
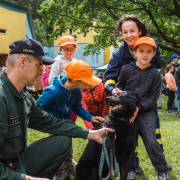
MULTIPOLYGON (((43 111, 26 91, 17 91, 5 74, 0 75, 0 159, 17 157, 27 146, 27 127, 46 133, 87 138, 89 130, 71 120, 57 120, 43 111)), ((25 180, 25 174, 3 166, 0 179, 25 180)))

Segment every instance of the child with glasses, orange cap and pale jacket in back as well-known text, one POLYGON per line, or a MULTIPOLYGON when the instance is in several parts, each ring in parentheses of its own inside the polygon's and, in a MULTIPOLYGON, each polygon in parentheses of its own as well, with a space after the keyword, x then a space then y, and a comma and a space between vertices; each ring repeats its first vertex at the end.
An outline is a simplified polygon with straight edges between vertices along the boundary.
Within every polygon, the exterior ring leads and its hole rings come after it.
POLYGON ((77 48, 77 44, 75 39, 72 36, 64 36, 60 40, 59 49, 55 51, 62 53, 62 55, 58 55, 55 58, 55 62, 52 64, 50 75, 49 75, 49 84, 53 83, 53 79, 55 76, 67 76, 67 72, 65 71, 65 66, 76 60, 73 58, 74 51, 77 48))

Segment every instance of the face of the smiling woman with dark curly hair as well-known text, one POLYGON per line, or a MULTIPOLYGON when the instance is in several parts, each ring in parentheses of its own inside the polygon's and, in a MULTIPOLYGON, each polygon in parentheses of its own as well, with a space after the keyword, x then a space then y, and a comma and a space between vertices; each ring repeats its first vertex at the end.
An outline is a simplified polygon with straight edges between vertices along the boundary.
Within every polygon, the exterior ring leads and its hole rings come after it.
POLYGON ((134 21, 125 21, 122 24, 122 36, 124 41, 128 44, 129 49, 133 50, 133 46, 139 36, 142 34, 142 31, 138 29, 137 24, 134 21))

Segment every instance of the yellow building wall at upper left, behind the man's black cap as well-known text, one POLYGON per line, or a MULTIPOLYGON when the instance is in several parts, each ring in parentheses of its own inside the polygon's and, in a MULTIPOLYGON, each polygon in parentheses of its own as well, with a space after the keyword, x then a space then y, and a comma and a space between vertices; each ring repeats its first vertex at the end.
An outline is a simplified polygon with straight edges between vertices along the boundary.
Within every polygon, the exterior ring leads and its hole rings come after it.
POLYGON ((26 37, 26 14, 0 7, 0 29, 7 34, 0 34, 0 54, 9 54, 9 45, 26 37))

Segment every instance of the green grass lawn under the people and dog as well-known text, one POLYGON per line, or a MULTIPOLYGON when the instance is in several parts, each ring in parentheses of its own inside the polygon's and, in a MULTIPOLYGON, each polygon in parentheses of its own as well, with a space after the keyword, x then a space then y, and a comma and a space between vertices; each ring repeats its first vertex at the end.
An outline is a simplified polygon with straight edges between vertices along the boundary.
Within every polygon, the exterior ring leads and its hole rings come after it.
MULTIPOLYGON (((173 171, 168 172, 170 180, 180 180, 180 118, 175 114, 167 114, 167 96, 163 96, 163 109, 158 110, 161 125, 161 135, 164 145, 164 155, 167 162, 172 166, 173 171)), ((85 127, 83 121, 78 118, 77 125, 85 127)), ((46 133, 41 133, 34 130, 28 130, 28 143, 38 139, 47 137, 46 133)), ((78 162, 88 140, 73 139, 73 155, 74 160, 78 162)), ((157 180, 157 171, 151 164, 151 161, 146 153, 145 147, 139 138, 139 158, 140 167, 144 174, 137 176, 138 180, 157 180)), ((119 179, 119 178, 115 178, 119 179)))

